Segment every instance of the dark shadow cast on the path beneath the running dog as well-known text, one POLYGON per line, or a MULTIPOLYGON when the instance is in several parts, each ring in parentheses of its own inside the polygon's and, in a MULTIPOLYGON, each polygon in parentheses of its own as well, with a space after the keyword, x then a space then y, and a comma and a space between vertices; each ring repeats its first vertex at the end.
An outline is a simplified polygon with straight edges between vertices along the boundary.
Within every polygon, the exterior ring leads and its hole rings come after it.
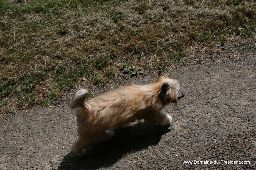
POLYGON ((134 124, 127 129, 117 127, 116 135, 109 142, 98 143, 87 147, 84 157, 77 157, 68 153, 60 163, 58 170, 98 169, 115 164, 127 153, 143 150, 150 145, 157 145, 169 126, 152 125, 146 123, 134 124))

